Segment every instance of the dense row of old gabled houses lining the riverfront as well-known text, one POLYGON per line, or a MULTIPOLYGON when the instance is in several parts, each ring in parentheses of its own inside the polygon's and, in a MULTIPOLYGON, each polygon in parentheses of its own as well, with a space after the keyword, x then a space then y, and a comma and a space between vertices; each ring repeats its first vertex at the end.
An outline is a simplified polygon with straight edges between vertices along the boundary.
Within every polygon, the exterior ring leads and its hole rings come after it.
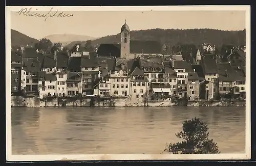
MULTIPOLYGON (((237 60, 236 55, 228 59, 237 60)), ((202 56, 200 64, 193 65, 162 57, 96 57, 89 52, 79 54, 78 50, 72 54, 45 54, 25 48, 11 52, 12 93, 24 91, 40 98, 86 93, 142 100, 171 96, 190 100, 245 97, 245 73, 242 67, 232 64, 218 63, 210 55, 202 56)))

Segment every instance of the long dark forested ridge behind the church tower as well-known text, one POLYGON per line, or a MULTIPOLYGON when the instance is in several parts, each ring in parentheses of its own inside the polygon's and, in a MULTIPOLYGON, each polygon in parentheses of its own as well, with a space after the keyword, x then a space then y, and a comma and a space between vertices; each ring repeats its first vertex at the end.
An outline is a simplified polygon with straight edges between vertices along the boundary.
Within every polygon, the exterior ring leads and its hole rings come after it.
MULTIPOLYGON (((182 44, 194 44, 196 46, 202 43, 211 43, 221 48, 223 44, 244 45, 245 30, 243 31, 221 31, 212 29, 194 29, 194 30, 140 30, 131 31, 131 40, 155 40, 162 44, 169 43, 170 46, 182 44)), ((93 45, 101 43, 120 43, 120 34, 105 36, 92 41, 93 45)))

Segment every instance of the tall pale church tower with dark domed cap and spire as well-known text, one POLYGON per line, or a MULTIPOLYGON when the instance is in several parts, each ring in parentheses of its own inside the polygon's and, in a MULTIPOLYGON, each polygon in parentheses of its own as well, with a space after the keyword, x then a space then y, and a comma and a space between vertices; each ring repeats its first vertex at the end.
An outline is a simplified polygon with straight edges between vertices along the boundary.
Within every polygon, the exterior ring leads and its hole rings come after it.
POLYGON ((126 24, 126 20, 121 27, 121 58, 129 58, 130 56, 130 28, 126 24))

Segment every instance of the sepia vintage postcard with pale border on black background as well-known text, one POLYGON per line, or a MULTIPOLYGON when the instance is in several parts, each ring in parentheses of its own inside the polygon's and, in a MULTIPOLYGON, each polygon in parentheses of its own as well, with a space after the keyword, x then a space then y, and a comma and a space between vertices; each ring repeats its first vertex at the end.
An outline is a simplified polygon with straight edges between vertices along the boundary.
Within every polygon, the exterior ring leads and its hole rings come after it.
POLYGON ((6 50, 8 161, 250 158, 250 6, 8 6, 6 50))

